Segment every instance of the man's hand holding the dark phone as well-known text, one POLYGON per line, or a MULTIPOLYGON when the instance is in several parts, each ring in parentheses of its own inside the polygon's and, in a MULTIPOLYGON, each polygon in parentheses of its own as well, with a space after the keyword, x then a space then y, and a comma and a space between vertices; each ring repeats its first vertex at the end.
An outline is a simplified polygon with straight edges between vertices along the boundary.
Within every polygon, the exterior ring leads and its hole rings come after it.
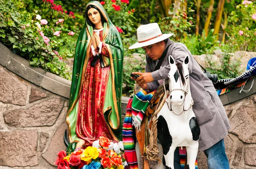
POLYGON ((143 89, 147 89, 148 88, 148 82, 152 82, 154 81, 154 79, 151 76, 151 72, 146 72, 146 73, 141 73, 141 72, 133 72, 132 74, 137 74, 140 77, 138 77, 137 79, 134 79, 131 77, 131 79, 136 80, 136 83, 143 89))

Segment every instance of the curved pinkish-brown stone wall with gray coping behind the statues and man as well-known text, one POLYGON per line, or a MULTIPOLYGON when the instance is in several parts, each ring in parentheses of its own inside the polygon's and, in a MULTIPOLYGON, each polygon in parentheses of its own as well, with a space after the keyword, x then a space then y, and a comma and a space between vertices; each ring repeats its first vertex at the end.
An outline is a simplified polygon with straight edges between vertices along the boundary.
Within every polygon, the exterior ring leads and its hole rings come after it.
MULTIPOLYGON (((70 85, 0 43, 0 169, 57 169, 70 85)), ((231 169, 256 169, 256 87, 239 90, 220 96, 231 124, 226 151, 231 169)), ((127 101, 122 97, 122 113, 127 101)), ((207 169, 204 152, 198 152, 198 166, 207 169)))

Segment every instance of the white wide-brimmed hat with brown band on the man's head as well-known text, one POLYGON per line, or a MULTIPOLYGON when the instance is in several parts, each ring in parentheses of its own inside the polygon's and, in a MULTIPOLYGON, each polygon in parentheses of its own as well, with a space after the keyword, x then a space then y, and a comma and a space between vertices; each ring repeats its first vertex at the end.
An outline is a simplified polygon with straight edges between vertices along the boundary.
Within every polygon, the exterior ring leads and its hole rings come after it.
POLYGON ((149 23, 147 25, 140 25, 137 28, 138 42, 131 45, 129 49, 140 48, 143 46, 152 45, 160 42, 166 38, 171 37, 173 34, 162 34, 157 23, 149 23))

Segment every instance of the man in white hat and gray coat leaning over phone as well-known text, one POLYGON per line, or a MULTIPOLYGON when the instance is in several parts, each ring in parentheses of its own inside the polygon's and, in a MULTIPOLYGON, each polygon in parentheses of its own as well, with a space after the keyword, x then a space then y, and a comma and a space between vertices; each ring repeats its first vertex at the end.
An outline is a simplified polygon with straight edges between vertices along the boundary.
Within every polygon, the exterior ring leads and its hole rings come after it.
MULTIPOLYGON (((138 42, 131 45, 129 49, 143 48, 146 53, 145 73, 137 74, 137 84, 148 91, 156 90, 163 79, 168 78, 170 71, 169 56, 171 55, 176 63, 183 63, 186 56, 189 56, 189 80, 192 98, 194 100, 193 111, 197 117, 201 129, 199 149, 207 156, 209 169, 229 169, 229 162, 225 153, 224 137, 230 129, 229 120, 225 109, 219 99, 212 81, 204 75, 198 63, 192 57, 187 47, 182 43, 176 43, 169 39, 173 34, 162 34, 157 23, 141 25, 137 29, 138 42), (157 65, 165 49, 161 67, 157 65), (155 68, 160 67, 158 70, 155 68)), ((175 154, 177 157, 178 155, 175 154)), ((175 166, 175 169, 180 167, 175 166)))

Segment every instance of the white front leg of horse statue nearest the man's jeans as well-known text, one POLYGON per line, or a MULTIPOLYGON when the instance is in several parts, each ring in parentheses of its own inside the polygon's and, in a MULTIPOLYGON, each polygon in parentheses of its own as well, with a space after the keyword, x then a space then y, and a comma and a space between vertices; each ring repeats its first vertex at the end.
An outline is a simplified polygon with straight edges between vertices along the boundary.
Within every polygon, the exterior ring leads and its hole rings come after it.
POLYGON ((187 152, 187 169, 195 169, 195 160, 198 154, 198 141, 191 144, 190 146, 186 146, 187 152))

